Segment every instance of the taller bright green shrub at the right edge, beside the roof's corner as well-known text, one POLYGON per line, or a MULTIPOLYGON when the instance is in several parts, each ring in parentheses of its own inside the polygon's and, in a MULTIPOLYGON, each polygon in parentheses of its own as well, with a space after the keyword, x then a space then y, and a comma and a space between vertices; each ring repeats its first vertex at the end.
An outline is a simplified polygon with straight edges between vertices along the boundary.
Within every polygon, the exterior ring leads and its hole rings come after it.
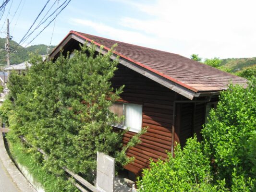
POLYGON ((246 89, 231 84, 221 93, 218 108, 210 112, 211 120, 202 131, 204 144, 215 161, 214 177, 225 179, 228 187, 233 187, 235 180, 246 185, 256 178, 256 148, 252 148, 256 136, 255 85, 256 79, 246 89))

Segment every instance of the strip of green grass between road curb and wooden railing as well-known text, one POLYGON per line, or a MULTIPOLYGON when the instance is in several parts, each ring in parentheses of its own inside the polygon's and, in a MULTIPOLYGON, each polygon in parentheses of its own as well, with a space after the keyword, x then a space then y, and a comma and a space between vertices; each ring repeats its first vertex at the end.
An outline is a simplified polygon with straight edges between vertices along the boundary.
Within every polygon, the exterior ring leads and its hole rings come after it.
POLYGON ((33 178, 46 192, 77 192, 78 190, 63 176, 56 176, 44 167, 43 156, 24 146, 19 140, 8 140, 10 153, 18 163, 27 168, 33 178))

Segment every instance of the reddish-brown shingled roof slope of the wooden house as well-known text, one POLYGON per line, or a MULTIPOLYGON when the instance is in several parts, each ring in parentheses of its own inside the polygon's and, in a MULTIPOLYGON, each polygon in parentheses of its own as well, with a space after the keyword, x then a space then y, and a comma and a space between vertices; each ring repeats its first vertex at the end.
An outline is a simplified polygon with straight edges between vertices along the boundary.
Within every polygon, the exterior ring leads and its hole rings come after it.
POLYGON ((137 45, 123 43, 99 36, 93 36, 80 32, 71 31, 79 34, 95 43, 111 48, 115 43, 116 53, 130 59, 137 64, 144 65, 147 69, 171 79, 172 81, 185 86, 195 92, 220 91, 227 88, 227 84, 246 84, 244 78, 222 72, 206 64, 188 59, 178 54, 160 51, 152 48, 145 48, 137 45))

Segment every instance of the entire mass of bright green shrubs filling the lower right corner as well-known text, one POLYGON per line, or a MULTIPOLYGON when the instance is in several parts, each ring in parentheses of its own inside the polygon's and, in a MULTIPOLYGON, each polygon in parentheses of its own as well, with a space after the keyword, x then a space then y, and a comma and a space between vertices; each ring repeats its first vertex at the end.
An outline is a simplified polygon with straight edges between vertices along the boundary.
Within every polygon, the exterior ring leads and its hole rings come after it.
POLYGON ((230 85, 202 131, 203 142, 188 139, 175 158, 152 162, 138 181, 148 192, 256 191, 256 79, 247 88, 230 85))

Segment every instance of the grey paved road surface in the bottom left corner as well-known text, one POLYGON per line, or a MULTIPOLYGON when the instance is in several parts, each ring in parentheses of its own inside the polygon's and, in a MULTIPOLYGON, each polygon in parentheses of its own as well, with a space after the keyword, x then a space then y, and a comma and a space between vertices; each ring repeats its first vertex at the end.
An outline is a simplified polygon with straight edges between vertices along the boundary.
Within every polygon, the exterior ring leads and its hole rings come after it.
MULTIPOLYGON (((1 154, 0 154, 1 155, 1 154)), ((21 192, 0 160, 0 192, 21 192)))

